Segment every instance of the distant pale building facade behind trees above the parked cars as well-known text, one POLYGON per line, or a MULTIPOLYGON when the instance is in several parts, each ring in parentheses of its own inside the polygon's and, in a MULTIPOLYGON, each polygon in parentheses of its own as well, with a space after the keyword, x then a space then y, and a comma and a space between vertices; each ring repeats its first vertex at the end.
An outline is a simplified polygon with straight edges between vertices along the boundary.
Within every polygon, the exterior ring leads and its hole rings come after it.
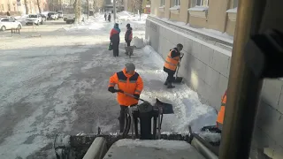
MULTIPOLYGON (((40 6, 42 11, 48 11, 48 4, 46 0, 40 0, 40 6)), ((27 0, 27 4, 25 0, 1 0, 0 1, 0 14, 5 15, 7 11, 11 13, 11 15, 21 15, 26 13, 26 9, 28 13, 38 13, 39 8, 37 5, 37 0, 27 0), (27 5, 27 7, 26 7, 27 5)))

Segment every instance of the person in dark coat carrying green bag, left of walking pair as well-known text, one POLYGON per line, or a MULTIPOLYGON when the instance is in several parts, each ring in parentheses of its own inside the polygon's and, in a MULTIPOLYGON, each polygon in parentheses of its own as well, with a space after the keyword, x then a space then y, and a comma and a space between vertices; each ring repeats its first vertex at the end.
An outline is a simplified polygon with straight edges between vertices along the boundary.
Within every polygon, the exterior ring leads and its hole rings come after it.
POLYGON ((111 29, 110 40, 113 49, 113 57, 119 57, 119 43, 120 43, 120 32, 119 24, 115 23, 114 28, 111 29))

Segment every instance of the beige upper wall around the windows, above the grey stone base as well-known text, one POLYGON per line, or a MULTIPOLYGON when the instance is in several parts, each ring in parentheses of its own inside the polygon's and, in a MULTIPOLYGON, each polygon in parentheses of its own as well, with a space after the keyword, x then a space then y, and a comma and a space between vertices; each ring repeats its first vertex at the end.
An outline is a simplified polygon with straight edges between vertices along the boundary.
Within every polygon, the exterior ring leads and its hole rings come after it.
MULTIPOLYGON (((151 14, 159 18, 189 23, 192 27, 206 27, 233 35, 235 22, 228 19, 226 11, 233 8, 233 0, 210 0, 206 18, 193 17, 187 12, 195 0, 180 0, 180 12, 170 11, 171 0, 164 0, 164 11, 159 10, 160 0, 151 1, 151 14), (173 13, 175 12, 175 13, 173 13)), ((203 1, 204 2, 204 1, 203 1)), ((205 3, 205 2, 204 2, 205 3)))

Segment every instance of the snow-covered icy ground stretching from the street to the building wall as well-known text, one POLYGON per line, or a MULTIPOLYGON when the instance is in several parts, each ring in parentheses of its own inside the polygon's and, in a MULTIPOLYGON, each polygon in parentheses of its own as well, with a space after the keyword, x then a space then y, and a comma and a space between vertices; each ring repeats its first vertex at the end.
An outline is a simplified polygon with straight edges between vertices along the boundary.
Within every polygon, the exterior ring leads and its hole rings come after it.
MULTIPOLYGON (((121 42, 128 21, 119 22, 121 42)), ((144 35, 142 21, 131 21, 134 36, 144 35)), ((112 26, 100 16, 41 38, 0 39, 0 158, 54 158, 57 133, 96 133, 97 126, 103 133, 116 132, 119 106, 107 91, 108 80, 129 61, 144 81, 142 98, 174 105, 175 115, 164 117, 164 132, 215 124, 214 109, 186 85, 164 87, 164 61, 149 46, 134 50, 130 59, 121 43, 120 57, 112 57, 107 50, 112 26)))

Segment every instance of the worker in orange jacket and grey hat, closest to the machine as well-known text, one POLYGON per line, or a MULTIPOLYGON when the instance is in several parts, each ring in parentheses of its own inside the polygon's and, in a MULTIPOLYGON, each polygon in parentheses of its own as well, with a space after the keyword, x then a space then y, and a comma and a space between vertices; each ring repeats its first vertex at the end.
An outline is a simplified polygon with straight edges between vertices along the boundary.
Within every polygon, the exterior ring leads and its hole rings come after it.
POLYGON ((117 101, 120 105, 120 116, 119 116, 119 127, 120 133, 124 130, 125 125, 125 110, 129 106, 134 106, 138 104, 138 98, 142 93, 143 82, 141 76, 134 71, 135 66, 133 63, 125 64, 125 68, 121 72, 116 72, 111 76, 108 86, 108 91, 111 93, 118 93, 117 101), (118 89, 114 87, 118 85, 118 89), (136 97, 133 98, 129 95, 134 95, 136 97))

